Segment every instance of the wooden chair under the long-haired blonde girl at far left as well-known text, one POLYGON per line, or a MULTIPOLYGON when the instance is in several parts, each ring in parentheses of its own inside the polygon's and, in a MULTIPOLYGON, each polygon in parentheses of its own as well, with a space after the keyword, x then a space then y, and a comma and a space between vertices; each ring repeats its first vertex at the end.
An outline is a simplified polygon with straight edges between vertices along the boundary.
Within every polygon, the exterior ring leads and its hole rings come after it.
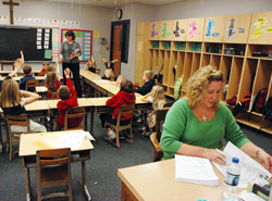
POLYGON ((8 124, 8 133, 9 133, 9 151, 10 151, 9 161, 12 161, 13 156, 17 153, 17 152, 13 153, 12 151, 13 142, 20 142, 20 136, 23 133, 12 133, 11 126, 12 125, 26 126, 27 133, 30 133, 29 118, 26 114, 5 115, 5 121, 8 124))

